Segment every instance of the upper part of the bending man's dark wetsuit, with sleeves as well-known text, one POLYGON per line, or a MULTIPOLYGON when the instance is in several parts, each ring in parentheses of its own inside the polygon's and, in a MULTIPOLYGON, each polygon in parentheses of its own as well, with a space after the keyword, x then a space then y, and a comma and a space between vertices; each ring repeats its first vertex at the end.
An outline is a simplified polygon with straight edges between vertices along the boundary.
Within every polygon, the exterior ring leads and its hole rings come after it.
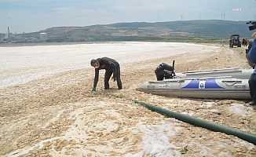
POLYGON ((116 78, 116 68, 119 67, 119 63, 116 60, 113 60, 112 58, 102 57, 97 58, 97 60, 100 62, 100 67, 95 68, 93 88, 96 88, 97 86, 97 82, 99 80, 99 73, 101 69, 105 69, 106 71, 113 71, 113 77, 116 78))

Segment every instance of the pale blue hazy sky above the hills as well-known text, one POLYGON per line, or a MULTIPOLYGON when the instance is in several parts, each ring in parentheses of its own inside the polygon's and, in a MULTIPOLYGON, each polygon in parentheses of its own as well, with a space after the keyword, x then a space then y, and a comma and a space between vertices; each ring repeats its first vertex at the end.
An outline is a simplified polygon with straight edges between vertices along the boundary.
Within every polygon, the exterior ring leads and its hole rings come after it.
POLYGON ((255 0, 0 0, 0 33, 175 20, 255 20, 255 0))

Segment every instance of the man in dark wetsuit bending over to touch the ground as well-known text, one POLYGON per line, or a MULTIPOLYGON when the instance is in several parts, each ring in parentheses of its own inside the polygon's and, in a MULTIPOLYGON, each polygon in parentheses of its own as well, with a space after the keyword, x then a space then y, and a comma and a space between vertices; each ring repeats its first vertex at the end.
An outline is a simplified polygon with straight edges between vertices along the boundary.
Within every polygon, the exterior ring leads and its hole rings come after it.
POLYGON ((97 82, 99 79, 99 71, 105 69, 104 75, 104 87, 109 89, 109 79, 113 74, 112 80, 117 82, 119 89, 122 89, 122 82, 120 78, 120 66, 116 60, 108 57, 97 58, 97 60, 91 60, 90 65, 95 68, 95 77, 93 82, 93 91, 96 90, 97 82))

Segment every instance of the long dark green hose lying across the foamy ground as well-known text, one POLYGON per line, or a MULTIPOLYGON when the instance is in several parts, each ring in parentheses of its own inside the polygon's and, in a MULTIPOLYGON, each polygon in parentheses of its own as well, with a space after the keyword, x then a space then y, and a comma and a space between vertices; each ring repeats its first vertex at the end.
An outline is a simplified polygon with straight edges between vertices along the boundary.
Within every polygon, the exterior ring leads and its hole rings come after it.
MULTIPOLYGON (((111 94, 111 96, 112 97, 119 97, 119 96, 116 96, 115 94, 111 94)), ((256 135, 253 134, 253 133, 247 133, 245 131, 237 130, 237 129, 234 129, 234 128, 229 127, 229 126, 222 126, 222 125, 216 124, 214 122, 208 122, 208 121, 203 120, 203 119, 197 119, 197 118, 189 116, 189 115, 183 115, 183 114, 177 113, 175 111, 169 111, 169 110, 166 110, 164 108, 155 107, 151 104, 146 104, 144 102, 140 102, 140 101, 133 100, 133 99, 130 99, 130 98, 126 98, 126 97, 119 97, 119 98, 123 98, 123 99, 126 99, 126 100, 133 101, 136 104, 141 104, 145 108, 148 108, 151 111, 158 112, 159 114, 165 115, 166 117, 178 119, 178 120, 181 120, 182 122, 188 122, 192 125, 203 127, 207 130, 226 133, 228 135, 234 135, 235 137, 239 137, 240 139, 242 139, 244 141, 247 141, 247 142, 250 142, 250 143, 256 145, 256 135)))

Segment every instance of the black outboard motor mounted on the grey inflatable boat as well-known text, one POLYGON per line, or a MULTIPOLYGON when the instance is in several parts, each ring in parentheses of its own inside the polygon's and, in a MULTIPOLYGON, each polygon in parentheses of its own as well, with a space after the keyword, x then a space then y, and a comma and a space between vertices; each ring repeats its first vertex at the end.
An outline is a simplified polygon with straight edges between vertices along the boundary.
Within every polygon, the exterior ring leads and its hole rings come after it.
POLYGON ((163 80, 163 79, 171 79, 172 78, 171 72, 173 71, 174 71, 174 68, 169 64, 165 64, 165 63, 159 64, 159 66, 155 69, 155 75, 156 75, 157 81, 163 80), (170 71, 170 72, 167 72, 167 71, 170 71))

